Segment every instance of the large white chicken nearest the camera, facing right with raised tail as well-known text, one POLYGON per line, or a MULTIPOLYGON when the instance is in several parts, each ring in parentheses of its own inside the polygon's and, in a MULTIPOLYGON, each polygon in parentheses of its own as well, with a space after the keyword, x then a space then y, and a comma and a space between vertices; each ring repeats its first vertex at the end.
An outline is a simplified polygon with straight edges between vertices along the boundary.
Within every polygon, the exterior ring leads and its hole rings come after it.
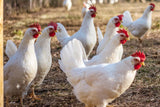
POLYGON ((81 46, 70 41, 60 53, 59 64, 75 96, 86 107, 106 107, 119 97, 132 84, 136 70, 145 61, 144 53, 136 52, 118 63, 86 67, 80 55, 83 51, 74 51, 77 48, 81 46))

